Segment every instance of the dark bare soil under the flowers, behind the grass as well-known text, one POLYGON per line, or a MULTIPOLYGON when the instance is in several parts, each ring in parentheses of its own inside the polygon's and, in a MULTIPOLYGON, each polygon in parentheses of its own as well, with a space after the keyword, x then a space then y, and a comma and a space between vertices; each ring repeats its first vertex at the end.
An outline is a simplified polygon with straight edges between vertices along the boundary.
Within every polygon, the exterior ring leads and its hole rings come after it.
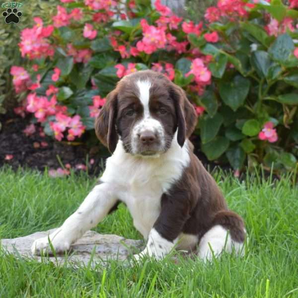
MULTIPOLYGON (((29 117, 21 118, 14 114, 6 114, 0 117, 0 122, 2 124, 0 167, 8 164, 14 170, 18 167, 29 167, 44 171, 45 168, 57 169, 62 167, 61 161, 63 165, 69 163, 75 169, 76 165, 86 165, 87 160, 94 159, 93 164, 88 163, 88 174, 93 176, 99 175, 103 169, 104 160, 110 155, 108 150, 104 149, 99 142, 93 147, 87 147, 83 141, 80 143, 58 142, 48 136, 41 137, 38 129, 28 137, 23 130, 30 124, 29 117), (42 147, 42 142, 46 142, 48 145, 42 147), (10 160, 5 160, 7 154, 11 154, 13 157, 10 160)), ((195 145, 195 154, 205 166, 213 169, 216 164, 208 162, 206 156, 199 150, 199 138, 194 135, 191 137, 191 141, 195 145)))

